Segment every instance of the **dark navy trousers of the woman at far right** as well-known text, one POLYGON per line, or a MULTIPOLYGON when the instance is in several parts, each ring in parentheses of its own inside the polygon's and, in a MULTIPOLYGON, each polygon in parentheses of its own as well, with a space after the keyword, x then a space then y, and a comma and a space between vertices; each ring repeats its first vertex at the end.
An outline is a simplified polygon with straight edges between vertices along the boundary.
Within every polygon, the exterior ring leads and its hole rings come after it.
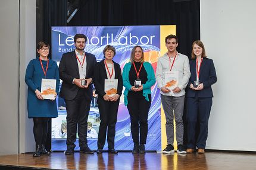
POLYGON ((187 111, 187 133, 188 143, 187 148, 205 149, 206 140, 208 136, 208 120, 210 117, 211 105, 213 104, 212 98, 187 98, 186 111, 187 111), (196 128, 198 124, 199 128, 196 128), (197 131, 198 130, 198 131, 197 131), (198 134, 198 135, 196 135, 198 134), (197 137, 196 137, 197 136, 197 137))

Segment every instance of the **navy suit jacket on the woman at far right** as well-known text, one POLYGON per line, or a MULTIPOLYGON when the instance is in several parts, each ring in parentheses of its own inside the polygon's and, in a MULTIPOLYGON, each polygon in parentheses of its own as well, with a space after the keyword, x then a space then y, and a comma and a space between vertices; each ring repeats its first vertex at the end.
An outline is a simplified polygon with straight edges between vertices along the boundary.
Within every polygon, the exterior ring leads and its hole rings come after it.
POLYGON ((204 84, 204 88, 200 91, 195 91, 189 88, 194 81, 196 81, 196 60, 191 60, 189 62, 191 70, 191 78, 187 86, 188 91, 186 92, 186 97, 195 97, 197 94, 198 97, 213 97, 213 90, 211 85, 217 81, 216 70, 214 68, 213 60, 205 58, 202 60, 200 73, 199 73, 199 82, 204 84))

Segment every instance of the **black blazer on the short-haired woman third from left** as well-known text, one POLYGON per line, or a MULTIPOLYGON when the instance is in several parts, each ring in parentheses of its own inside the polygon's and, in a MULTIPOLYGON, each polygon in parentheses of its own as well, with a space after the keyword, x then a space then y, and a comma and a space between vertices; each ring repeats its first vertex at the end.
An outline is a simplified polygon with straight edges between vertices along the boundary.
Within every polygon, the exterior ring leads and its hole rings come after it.
MULTIPOLYGON (((118 63, 114 63, 114 70, 115 70, 115 79, 118 79, 118 85, 117 85, 117 94, 121 96, 123 91, 123 78, 121 75, 121 68, 118 63)), ((94 69, 94 86, 96 88, 95 94, 98 94, 100 97, 103 97, 106 93, 104 91, 104 84, 105 79, 107 79, 107 72, 105 69, 105 63, 104 60, 101 60, 101 62, 96 63, 95 69, 94 69)))

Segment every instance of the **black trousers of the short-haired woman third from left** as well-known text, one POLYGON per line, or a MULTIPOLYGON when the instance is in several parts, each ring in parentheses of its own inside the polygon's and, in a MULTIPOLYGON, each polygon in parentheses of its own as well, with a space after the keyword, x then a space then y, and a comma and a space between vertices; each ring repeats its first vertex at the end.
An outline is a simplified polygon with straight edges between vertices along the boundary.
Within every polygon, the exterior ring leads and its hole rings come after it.
POLYGON ((98 149, 103 149, 108 130, 108 148, 114 149, 115 146, 115 124, 117 123, 117 111, 120 98, 117 101, 105 101, 102 97, 98 97, 99 115, 101 124, 98 133, 98 149))

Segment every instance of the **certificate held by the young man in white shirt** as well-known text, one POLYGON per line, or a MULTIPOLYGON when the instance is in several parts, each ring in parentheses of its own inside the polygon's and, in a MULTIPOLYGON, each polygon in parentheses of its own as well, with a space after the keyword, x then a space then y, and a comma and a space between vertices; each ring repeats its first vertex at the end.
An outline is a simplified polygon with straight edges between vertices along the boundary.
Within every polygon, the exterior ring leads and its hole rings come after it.
POLYGON ((179 84, 179 71, 164 72, 164 86, 171 91, 179 84))

